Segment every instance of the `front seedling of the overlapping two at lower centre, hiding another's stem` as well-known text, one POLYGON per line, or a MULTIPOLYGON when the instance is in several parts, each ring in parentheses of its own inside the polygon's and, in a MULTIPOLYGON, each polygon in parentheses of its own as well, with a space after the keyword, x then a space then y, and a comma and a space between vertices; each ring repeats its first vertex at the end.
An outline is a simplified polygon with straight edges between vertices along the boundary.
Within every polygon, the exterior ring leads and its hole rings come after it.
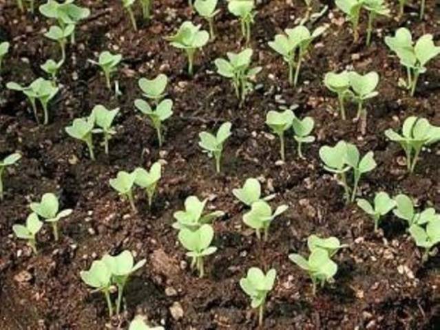
POLYGON ((211 246, 214 237, 214 230, 211 225, 201 225, 196 230, 182 228, 178 233, 178 239, 187 252, 187 256, 192 258, 191 268, 196 267, 199 277, 205 276, 204 258, 217 251, 215 246, 211 246))

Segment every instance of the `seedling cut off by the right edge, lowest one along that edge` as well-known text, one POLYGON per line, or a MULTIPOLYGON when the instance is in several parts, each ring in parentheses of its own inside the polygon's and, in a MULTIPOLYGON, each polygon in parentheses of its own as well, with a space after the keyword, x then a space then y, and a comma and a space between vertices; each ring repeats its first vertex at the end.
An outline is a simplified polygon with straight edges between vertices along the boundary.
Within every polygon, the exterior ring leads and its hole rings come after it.
POLYGON ((416 245, 425 249, 422 261, 428 261, 429 256, 435 254, 432 248, 434 248, 434 245, 440 243, 440 217, 429 221, 426 228, 420 225, 412 225, 409 232, 415 240, 416 245))

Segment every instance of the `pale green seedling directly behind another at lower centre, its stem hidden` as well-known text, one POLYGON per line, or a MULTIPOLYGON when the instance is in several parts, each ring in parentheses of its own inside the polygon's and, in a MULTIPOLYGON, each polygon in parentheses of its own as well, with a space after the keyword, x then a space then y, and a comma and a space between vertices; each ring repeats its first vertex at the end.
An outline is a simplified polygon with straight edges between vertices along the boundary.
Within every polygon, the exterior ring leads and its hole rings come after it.
POLYGON ((222 217, 224 212, 214 211, 203 214, 207 199, 200 201, 196 196, 189 196, 185 199, 185 211, 174 212, 173 217, 177 221, 173 223, 173 228, 181 230, 187 228, 189 230, 197 230, 205 223, 211 223, 213 219, 222 217))

